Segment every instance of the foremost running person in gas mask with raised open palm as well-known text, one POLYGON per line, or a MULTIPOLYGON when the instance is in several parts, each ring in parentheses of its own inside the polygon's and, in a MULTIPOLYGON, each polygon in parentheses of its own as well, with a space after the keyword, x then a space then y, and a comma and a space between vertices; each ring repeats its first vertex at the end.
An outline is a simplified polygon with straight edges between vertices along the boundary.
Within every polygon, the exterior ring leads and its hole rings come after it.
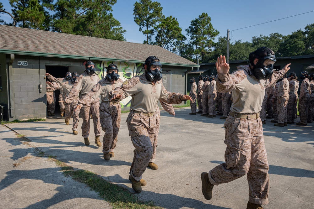
POLYGON ((274 53, 266 47, 258 48, 249 57, 250 64, 237 66, 229 74, 230 66, 225 56, 216 62, 216 90, 232 91, 231 112, 225 124, 225 163, 201 174, 205 199, 212 198, 213 187, 247 175, 249 201, 247 208, 263 208, 268 203, 268 160, 263 138, 263 125, 259 112, 265 89, 273 85, 290 69, 284 66, 273 72, 274 53), (254 158, 251 154, 254 153, 254 158), (258 178, 256 178, 258 176, 258 178))

